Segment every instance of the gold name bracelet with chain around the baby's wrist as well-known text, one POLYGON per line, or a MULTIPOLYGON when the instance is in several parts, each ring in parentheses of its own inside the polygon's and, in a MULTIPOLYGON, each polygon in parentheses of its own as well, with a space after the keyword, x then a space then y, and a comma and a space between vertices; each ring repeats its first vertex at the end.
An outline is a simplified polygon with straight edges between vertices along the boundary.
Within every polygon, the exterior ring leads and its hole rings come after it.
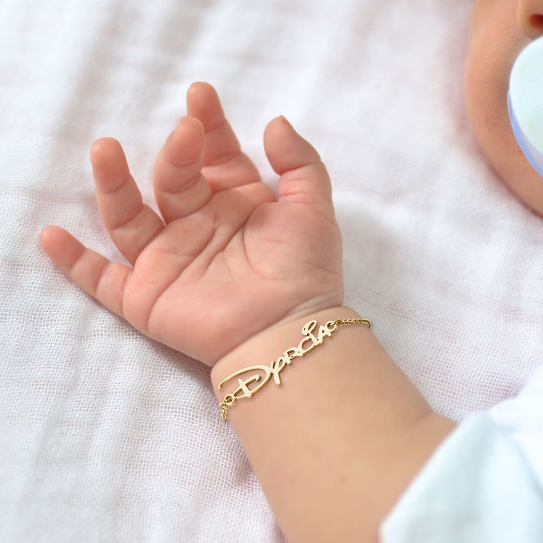
POLYGON ((264 388, 271 376, 273 375, 275 384, 281 386, 281 371, 285 369, 287 364, 292 364, 292 359, 299 356, 304 356, 308 352, 312 351, 318 345, 321 345, 324 341, 324 336, 332 337, 332 333, 337 330, 338 326, 348 326, 350 324, 365 324, 368 328, 371 327, 371 323, 368 319, 336 319, 329 320, 324 326, 319 327, 319 332, 317 336, 314 336, 313 330, 317 326, 316 320, 310 320, 308 323, 304 324, 302 327, 302 334, 304 338, 298 344, 297 347, 291 347, 287 349, 277 360, 271 362, 269 366, 259 365, 259 366, 250 366, 249 368, 244 368, 234 372, 232 375, 226 377, 224 381, 219 383, 218 389, 223 388, 225 383, 228 383, 235 377, 239 377, 247 371, 263 371, 265 377, 262 379, 262 375, 251 375, 249 378, 243 381, 238 378, 238 388, 234 390, 232 394, 226 394, 224 400, 219 403, 221 407, 220 416, 223 420, 226 420, 226 409, 233 406, 237 400, 241 398, 250 398, 254 396, 257 392, 260 392, 264 388), (306 346, 307 345, 307 346, 306 346), (259 383, 255 388, 249 389, 248 384, 259 383))

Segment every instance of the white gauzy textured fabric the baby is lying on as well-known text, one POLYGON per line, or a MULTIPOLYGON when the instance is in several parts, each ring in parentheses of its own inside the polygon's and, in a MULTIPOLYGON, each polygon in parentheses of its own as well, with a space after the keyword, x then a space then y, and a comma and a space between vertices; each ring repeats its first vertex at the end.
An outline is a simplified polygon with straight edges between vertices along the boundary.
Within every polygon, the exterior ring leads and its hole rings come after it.
POLYGON ((217 87, 270 184, 270 118, 317 147, 345 303, 438 412, 462 420, 519 392, 541 363, 543 220, 470 132, 470 7, 0 1, 1 541, 283 540, 209 369, 110 314, 37 243, 59 224, 123 261, 89 148, 118 138, 150 203, 154 157, 194 80, 217 87))

